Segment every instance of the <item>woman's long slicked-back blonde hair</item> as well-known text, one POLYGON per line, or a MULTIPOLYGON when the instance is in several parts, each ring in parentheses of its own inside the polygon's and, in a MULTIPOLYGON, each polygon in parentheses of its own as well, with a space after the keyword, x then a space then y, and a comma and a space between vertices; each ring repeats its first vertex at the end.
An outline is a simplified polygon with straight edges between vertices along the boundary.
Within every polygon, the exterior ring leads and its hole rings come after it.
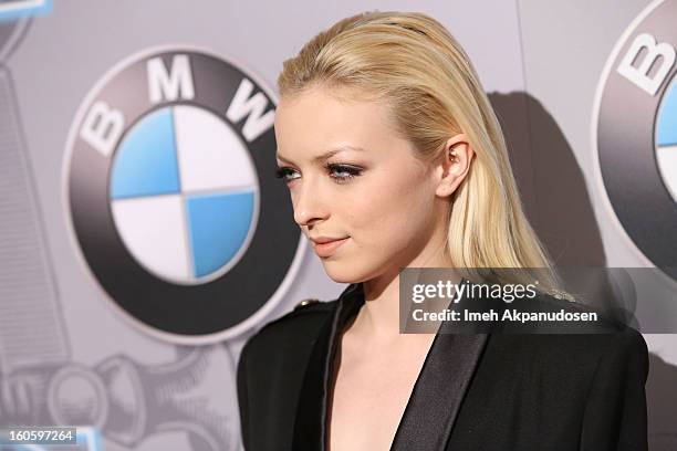
MULTIPOLYGON (((470 280, 539 279, 560 286, 546 251, 524 214, 493 108, 467 54, 435 19, 416 12, 364 12, 319 33, 278 78, 282 98, 312 86, 357 88, 386 102, 398 130, 425 161, 465 133, 475 150, 451 196, 446 251, 470 280), (473 269, 545 269, 490 271, 473 269), (468 271, 468 269, 470 269, 468 271)), ((363 97, 364 98, 364 97, 363 97)), ((520 281, 521 282, 521 281, 520 281)))

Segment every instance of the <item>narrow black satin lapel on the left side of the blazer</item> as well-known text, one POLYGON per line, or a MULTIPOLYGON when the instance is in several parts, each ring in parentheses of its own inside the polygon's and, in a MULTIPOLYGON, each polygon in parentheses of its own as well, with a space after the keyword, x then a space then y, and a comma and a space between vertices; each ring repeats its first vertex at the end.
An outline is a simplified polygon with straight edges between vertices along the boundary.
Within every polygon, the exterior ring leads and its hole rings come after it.
POLYGON ((362 284, 351 284, 338 296, 336 310, 320 331, 301 386, 294 433, 293 451, 325 451, 327 406, 333 377, 332 363, 338 344, 338 334, 346 321, 364 303, 362 284))

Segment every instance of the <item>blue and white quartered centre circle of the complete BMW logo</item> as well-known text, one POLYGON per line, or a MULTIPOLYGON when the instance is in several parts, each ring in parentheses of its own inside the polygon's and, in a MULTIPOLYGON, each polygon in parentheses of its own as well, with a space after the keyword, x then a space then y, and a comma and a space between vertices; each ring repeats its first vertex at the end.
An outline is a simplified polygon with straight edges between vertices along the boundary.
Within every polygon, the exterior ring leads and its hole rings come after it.
POLYGON ((150 273, 178 284, 223 274, 243 255, 258 217, 249 151, 199 107, 157 109, 121 141, 111 169, 117 232, 150 273))

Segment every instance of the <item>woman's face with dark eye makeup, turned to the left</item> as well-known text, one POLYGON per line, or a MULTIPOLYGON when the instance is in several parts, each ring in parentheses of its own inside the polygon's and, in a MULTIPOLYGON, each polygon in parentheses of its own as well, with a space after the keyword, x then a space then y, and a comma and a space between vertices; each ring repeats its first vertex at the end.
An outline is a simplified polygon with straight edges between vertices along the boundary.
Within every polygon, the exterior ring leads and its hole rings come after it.
POLYGON ((449 208, 435 193, 439 174, 414 157, 384 104, 331 93, 282 98, 275 113, 279 176, 327 275, 354 283, 439 261, 449 208), (323 238, 342 241, 316 245, 323 238))

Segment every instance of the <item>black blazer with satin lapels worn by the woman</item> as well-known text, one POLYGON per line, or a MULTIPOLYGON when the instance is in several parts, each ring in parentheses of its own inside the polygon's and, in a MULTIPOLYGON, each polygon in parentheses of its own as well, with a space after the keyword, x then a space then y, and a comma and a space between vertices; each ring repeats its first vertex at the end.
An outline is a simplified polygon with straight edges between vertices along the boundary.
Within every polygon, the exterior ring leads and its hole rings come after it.
MULTIPOLYGON (((247 451, 325 450, 337 338, 363 303, 351 284, 249 339, 237 375, 247 451)), ((645 451, 647 373, 632 328, 437 334, 390 450, 645 451)))

